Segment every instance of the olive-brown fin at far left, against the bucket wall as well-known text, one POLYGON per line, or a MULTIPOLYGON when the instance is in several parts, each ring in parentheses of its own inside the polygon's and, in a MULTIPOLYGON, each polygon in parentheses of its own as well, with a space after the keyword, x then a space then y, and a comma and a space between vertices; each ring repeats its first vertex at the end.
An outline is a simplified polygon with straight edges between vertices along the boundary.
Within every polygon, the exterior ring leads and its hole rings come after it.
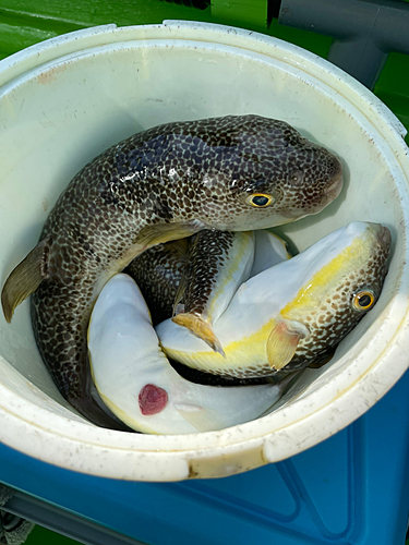
POLYGON ((36 291, 48 277, 48 238, 39 242, 26 257, 10 272, 1 292, 1 305, 5 320, 10 324, 16 306, 36 291))

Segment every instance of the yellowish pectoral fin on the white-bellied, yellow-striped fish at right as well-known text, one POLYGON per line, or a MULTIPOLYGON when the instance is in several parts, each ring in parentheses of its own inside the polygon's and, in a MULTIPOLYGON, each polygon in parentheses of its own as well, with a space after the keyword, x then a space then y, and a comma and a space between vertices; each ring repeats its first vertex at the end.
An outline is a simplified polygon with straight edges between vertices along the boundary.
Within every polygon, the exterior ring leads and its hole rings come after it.
POLYGON ((301 339, 310 336, 310 330, 294 319, 275 320, 266 343, 266 353, 272 370, 279 371, 289 363, 301 339))

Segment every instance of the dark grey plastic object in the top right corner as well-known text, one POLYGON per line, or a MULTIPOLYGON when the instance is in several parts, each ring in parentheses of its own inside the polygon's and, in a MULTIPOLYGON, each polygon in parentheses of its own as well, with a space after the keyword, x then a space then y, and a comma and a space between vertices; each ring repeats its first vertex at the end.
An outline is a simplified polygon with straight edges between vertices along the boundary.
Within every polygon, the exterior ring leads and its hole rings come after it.
POLYGON ((282 25, 333 36, 327 60, 372 89, 392 51, 409 55, 409 3, 282 0, 282 25))

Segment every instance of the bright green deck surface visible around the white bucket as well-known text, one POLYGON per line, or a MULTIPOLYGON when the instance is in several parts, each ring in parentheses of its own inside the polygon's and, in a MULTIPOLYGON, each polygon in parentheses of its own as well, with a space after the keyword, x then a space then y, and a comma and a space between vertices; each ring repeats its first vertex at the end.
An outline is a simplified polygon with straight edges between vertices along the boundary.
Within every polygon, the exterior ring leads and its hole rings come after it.
MULTIPOLYGON (((157 24, 164 20, 189 20, 229 24, 285 39, 326 57, 332 38, 265 21, 264 0, 213 0, 205 10, 160 0, 0 0, 0 59, 21 49, 72 31, 115 23, 118 26, 157 24), (251 9, 249 10, 249 5, 251 9)), ((392 53, 374 93, 409 131, 409 57, 392 53)), ((409 143, 409 137, 406 138, 409 143)), ((70 545, 76 542, 36 526, 27 545, 70 545)), ((409 541, 407 542, 409 545, 409 541)))

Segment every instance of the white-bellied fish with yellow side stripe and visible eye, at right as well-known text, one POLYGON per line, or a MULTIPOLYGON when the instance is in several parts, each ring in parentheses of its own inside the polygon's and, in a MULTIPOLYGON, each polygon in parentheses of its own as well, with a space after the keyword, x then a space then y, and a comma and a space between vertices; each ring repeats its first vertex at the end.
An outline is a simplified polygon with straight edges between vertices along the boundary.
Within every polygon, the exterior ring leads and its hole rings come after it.
POLYGON ((225 358, 171 320, 156 328, 168 358, 238 378, 330 359, 376 303, 390 250, 378 223, 352 222, 244 282, 214 324, 225 358))

